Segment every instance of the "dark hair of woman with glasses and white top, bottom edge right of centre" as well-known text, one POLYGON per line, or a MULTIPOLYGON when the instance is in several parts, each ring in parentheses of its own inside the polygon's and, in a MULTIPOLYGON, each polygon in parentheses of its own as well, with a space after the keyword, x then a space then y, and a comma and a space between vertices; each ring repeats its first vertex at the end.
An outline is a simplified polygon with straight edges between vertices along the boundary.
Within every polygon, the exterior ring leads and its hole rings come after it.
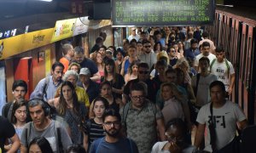
POLYGON ((167 122, 166 124, 166 131, 170 129, 170 127, 175 126, 177 129, 181 130, 181 133, 183 133, 183 137, 186 135, 187 127, 186 123, 183 122, 181 118, 174 118, 167 122))

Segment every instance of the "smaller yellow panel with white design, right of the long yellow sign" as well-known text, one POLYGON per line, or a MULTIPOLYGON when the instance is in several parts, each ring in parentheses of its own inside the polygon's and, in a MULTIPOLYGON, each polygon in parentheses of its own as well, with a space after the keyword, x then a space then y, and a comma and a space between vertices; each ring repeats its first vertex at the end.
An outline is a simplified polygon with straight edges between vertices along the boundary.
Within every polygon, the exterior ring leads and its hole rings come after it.
POLYGON ((56 21, 55 31, 53 33, 51 42, 57 42, 67 37, 73 37, 75 22, 76 19, 56 21))

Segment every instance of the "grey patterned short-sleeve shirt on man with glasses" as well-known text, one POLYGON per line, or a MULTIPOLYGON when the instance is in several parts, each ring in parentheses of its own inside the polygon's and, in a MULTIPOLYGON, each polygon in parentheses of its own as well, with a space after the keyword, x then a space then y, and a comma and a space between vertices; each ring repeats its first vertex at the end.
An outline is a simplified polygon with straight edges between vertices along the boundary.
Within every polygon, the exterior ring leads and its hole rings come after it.
MULTIPOLYGON (((146 100, 143 108, 137 110, 128 103, 129 111, 126 117, 127 137, 133 139, 140 153, 148 153, 157 140, 156 121, 163 118, 162 112, 155 104, 146 100)), ((120 110, 123 116, 123 110, 120 110)))

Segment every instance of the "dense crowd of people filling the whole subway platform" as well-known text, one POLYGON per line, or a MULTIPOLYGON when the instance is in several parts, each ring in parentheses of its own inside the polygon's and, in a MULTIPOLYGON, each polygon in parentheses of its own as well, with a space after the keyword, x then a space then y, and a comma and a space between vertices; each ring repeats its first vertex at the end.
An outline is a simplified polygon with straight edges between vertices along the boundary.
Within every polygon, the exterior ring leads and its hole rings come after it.
POLYGON ((103 44, 97 37, 89 57, 63 44, 29 100, 15 80, 2 152, 214 152, 236 138, 236 123, 247 127, 229 100, 233 65, 200 26, 131 28, 122 47, 103 44))

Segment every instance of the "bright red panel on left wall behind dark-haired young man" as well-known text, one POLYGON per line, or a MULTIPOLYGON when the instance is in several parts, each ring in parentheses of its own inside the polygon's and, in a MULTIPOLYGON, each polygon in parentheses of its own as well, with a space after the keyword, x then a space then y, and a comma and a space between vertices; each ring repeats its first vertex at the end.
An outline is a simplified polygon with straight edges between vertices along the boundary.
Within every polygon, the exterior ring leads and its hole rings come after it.
POLYGON ((31 94, 31 78, 32 78, 32 58, 26 57, 22 59, 15 59, 14 60, 14 66, 15 66, 15 80, 22 79, 27 84, 27 94, 25 96, 25 99, 29 99, 29 95, 31 94))

